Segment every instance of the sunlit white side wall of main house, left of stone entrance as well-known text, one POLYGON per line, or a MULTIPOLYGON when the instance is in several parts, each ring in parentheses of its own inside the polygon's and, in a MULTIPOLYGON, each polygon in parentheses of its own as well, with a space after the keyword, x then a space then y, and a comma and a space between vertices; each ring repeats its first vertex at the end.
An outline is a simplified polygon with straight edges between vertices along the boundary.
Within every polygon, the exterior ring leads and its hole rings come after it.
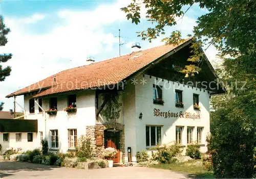
MULTIPOLYGON (((74 93, 71 93, 74 94, 74 93)), ((49 148, 51 148, 51 134, 50 130, 58 130, 59 137, 59 151, 66 152, 68 150, 68 129, 77 130, 77 139, 81 135, 86 134, 86 126, 95 125, 95 91, 82 91, 76 92, 76 106, 77 112, 68 114, 63 109, 67 107, 67 95, 57 95, 52 97, 57 97, 57 115, 48 115, 46 117, 44 113, 38 112, 38 106, 35 105, 35 114, 29 114, 29 97, 24 99, 26 117, 27 119, 38 119, 38 134, 37 137, 40 138, 39 132, 43 132, 48 139, 49 148), (46 119, 46 120, 45 120, 46 119), (45 129, 46 123, 46 129, 45 129), (45 133, 45 131, 47 131, 45 133)), ((49 109, 49 97, 42 98, 42 108, 44 110, 49 109)), ((37 101, 38 103, 38 101, 37 101)), ((40 141, 38 141, 38 146, 40 146, 40 141)))

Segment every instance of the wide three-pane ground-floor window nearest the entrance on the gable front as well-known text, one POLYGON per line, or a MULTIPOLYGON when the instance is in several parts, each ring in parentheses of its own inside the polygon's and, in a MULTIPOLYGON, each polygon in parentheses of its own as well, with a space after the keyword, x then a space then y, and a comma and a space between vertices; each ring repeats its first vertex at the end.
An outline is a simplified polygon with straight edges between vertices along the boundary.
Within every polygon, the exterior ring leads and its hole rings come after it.
POLYGON ((162 127, 146 125, 146 146, 161 145, 162 127))

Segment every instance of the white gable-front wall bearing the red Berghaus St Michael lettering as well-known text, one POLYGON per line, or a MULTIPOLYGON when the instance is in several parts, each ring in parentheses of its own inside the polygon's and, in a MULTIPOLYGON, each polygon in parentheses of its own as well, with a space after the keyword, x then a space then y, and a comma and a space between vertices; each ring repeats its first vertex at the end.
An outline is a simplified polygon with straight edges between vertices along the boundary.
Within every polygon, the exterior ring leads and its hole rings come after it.
POLYGON ((182 133, 182 145, 187 145, 187 126, 194 126, 193 141, 197 140, 197 127, 204 127, 202 135, 201 151, 207 150, 206 135, 209 133, 209 94, 205 90, 192 89, 186 85, 178 85, 178 83, 167 82, 158 78, 160 83, 155 82, 156 77, 145 75, 144 79, 146 84, 141 84, 140 80, 143 76, 139 76, 138 84, 135 85, 136 95, 136 151, 142 151, 146 149, 146 136, 145 126, 146 125, 161 125, 162 126, 162 143, 169 143, 176 140, 176 126, 184 126, 182 133), (163 97, 164 105, 153 104, 153 84, 163 86, 163 97), (182 90, 183 93, 183 104, 184 108, 175 107, 175 90, 182 90), (193 93, 199 94, 199 106, 200 111, 194 110, 193 107, 193 93), (159 109, 160 112, 173 112, 178 113, 182 111, 189 112, 191 114, 200 114, 200 119, 190 119, 181 117, 170 117, 165 118, 161 116, 154 116, 154 109, 159 109), (142 120, 139 119, 139 114, 142 113, 142 120))

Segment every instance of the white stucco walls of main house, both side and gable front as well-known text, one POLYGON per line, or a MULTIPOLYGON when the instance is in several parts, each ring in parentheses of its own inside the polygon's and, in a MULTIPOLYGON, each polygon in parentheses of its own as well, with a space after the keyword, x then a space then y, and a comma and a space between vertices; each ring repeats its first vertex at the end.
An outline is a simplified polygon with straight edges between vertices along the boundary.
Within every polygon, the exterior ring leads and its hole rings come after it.
MULTIPOLYGON (((193 126, 193 141, 197 140, 197 127, 204 127, 202 135, 201 151, 207 150, 205 141, 206 135, 209 133, 209 94, 205 90, 188 87, 186 85, 178 85, 178 83, 167 82, 158 78, 160 83, 155 82, 156 77, 145 75, 146 84, 140 83, 143 76, 140 75, 137 84, 129 82, 123 93, 123 106, 121 107, 119 123, 124 124, 125 135, 125 161, 127 161, 127 147, 132 147, 132 161, 136 161, 135 155, 137 151, 146 149, 146 125, 162 126, 162 143, 169 143, 176 140, 176 126, 183 126, 182 145, 187 145, 187 126, 193 126), (164 105, 153 104, 153 84, 163 86, 164 105), (184 108, 175 107, 175 90, 183 91, 184 108), (199 94, 200 111, 193 108, 193 93, 199 94), (184 112, 191 114, 200 114, 200 119, 178 117, 154 116, 154 109, 159 109, 160 112, 178 113, 184 112), (139 119, 139 114, 142 113, 142 119, 139 119)), ((50 130, 58 130, 59 133, 59 150, 66 152, 68 150, 68 129, 77 129, 77 138, 80 135, 86 134, 86 126, 103 123, 104 119, 95 118, 95 91, 77 92, 77 113, 68 115, 63 111, 67 107, 67 94, 53 96, 58 97, 58 112, 56 116, 46 115, 47 138, 50 144, 50 130)), ((38 113, 38 107, 35 105, 35 114, 29 114, 29 99, 25 97, 25 110, 27 119, 38 119, 38 132, 42 131, 45 136, 45 116, 43 113, 38 113)), ((120 93, 120 102, 122 102, 122 93, 120 93)), ((100 103, 99 103, 100 105, 100 103)), ((43 98, 42 107, 44 110, 49 109, 49 98, 43 98)), ((37 134, 39 139, 39 133, 37 134)), ((37 142, 38 146, 40 141, 37 142)))

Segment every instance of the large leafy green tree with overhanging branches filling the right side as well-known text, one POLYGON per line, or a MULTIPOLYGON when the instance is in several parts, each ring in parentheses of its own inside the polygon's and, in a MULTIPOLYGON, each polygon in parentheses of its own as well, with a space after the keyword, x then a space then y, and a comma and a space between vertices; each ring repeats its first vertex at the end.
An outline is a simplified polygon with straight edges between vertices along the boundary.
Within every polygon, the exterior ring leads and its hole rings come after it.
MULTIPOLYGON (((165 34, 166 27, 177 24, 191 6, 207 12, 198 17, 194 37, 201 45, 214 45, 223 59, 222 79, 228 97, 214 101, 212 130, 209 143, 216 177, 252 177, 255 174, 253 149, 256 146, 256 3, 254 0, 133 0, 121 8, 132 23, 140 22, 141 5, 146 8, 146 18, 151 27, 139 32, 142 40, 150 42, 165 34), (183 9, 185 9, 183 11, 183 9), (218 103, 217 103, 218 102, 218 103), (231 127, 233 126, 233 127, 231 127)), ((181 33, 172 32, 164 38, 166 43, 182 41, 181 33)), ((183 70, 194 75, 200 69, 195 65, 201 57, 198 45, 191 46, 194 55, 183 70)), ((223 96, 222 96, 223 97, 223 96)), ((220 97, 221 98, 221 97, 220 97)))

